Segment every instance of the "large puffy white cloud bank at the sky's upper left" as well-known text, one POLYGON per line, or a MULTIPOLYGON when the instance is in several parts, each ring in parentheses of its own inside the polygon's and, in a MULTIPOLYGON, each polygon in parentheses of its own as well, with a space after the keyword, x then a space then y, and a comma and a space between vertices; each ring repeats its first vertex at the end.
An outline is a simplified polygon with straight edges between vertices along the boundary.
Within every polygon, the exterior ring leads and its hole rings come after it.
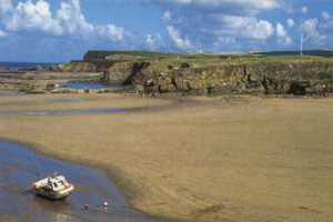
MULTIPOLYGON (((0 6, 8 6, 8 10, 10 9, 8 3, 11 1, 0 1, 2 3, 0 6)), ((60 2, 60 8, 56 14, 52 14, 50 4, 44 0, 38 0, 36 3, 31 0, 24 3, 19 2, 6 17, 3 23, 6 31, 11 33, 39 32, 40 34, 68 36, 80 40, 102 38, 113 42, 120 42, 132 37, 130 32, 114 24, 94 27, 89 23, 81 12, 79 0, 60 2)))

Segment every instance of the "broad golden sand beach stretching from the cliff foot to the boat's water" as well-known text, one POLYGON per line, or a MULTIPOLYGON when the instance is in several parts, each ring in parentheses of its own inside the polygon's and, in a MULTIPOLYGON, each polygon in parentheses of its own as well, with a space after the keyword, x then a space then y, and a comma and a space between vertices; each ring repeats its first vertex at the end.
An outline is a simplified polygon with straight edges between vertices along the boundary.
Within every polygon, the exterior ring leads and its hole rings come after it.
POLYGON ((1 139, 101 169, 128 202, 180 221, 332 221, 333 99, 1 97, 1 139), (80 98, 78 101, 39 102, 80 98))

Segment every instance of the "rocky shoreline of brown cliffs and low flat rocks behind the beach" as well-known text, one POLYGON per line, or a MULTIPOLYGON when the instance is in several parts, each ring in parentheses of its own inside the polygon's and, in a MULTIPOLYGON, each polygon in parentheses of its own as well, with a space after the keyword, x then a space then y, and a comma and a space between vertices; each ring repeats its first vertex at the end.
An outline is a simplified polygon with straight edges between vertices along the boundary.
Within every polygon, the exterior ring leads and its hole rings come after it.
POLYGON ((219 65, 200 65, 196 63, 209 59, 192 62, 189 59, 163 58, 125 60, 119 53, 123 56, 124 52, 89 51, 82 61, 33 69, 0 69, 0 89, 50 92, 48 83, 72 81, 127 85, 127 90, 121 92, 145 95, 278 94, 325 98, 333 92, 333 61, 330 59, 285 59, 258 63, 232 59, 225 62, 221 58, 219 65))

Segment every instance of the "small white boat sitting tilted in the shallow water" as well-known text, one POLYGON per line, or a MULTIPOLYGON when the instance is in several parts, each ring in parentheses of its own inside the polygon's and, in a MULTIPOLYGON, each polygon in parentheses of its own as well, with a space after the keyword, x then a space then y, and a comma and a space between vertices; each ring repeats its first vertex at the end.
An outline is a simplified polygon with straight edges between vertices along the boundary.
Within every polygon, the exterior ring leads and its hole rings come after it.
POLYGON ((74 186, 68 183, 63 175, 44 178, 33 182, 31 186, 34 189, 36 194, 51 200, 64 200, 74 190, 74 186))

